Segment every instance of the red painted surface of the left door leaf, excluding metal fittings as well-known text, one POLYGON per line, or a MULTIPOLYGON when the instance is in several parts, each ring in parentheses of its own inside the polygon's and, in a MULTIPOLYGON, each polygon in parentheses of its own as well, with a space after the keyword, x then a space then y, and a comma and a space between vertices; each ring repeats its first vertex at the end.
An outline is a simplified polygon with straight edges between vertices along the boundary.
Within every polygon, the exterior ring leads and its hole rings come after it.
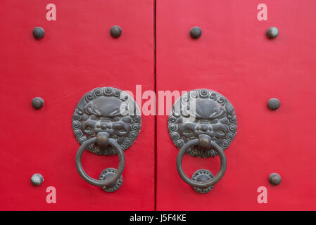
MULTIPOLYGON (((46 20, 48 3, 0 3, 0 210, 153 210, 155 117, 142 117, 115 193, 77 173, 71 125, 77 102, 98 86, 153 90, 153 1, 55 0, 56 21, 46 20), (122 27, 118 39, 110 37, 113 25, 122 27), (37 26, 46 32, 39 41, 37 26), (41 110, 31 106, 36 96, 44 98, 41 110), (32 186, 34 173, 44 176, 41 186, 32 186), (46 203, 48 186, 56 188, 56 204, 46 203)), ((97 178, 118 167, 118 156, 86 152, 82 164, 97 178)))

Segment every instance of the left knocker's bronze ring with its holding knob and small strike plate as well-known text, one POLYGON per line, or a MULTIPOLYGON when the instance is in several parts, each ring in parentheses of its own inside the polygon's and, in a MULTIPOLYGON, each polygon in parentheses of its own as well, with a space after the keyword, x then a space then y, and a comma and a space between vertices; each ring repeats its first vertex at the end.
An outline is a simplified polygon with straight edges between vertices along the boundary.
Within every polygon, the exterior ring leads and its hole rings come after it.
POLYGON ((82 179, 84 181, 87 181, 89 184, 92 184, 94 186, 101 186, 104 191, 113 192, 118 190, 120 188, 120 185, 122 184, 122 172, 124 170, 125 166, 125 155, 120 148, 120 145, 114 140, 109 138, 109 134, 107 132, 99 132, 96 137, 88 139, 87 141, 84 141, 80 148, 77 151, 76 154, 76 167, 77 172, 80 174, 82 179), (98 146, 107 146, 110 145, 113 148, 115 148, 116 152, 118 153, 119 158, 119 165, 118 169, 108 168, 103 170, 103 172, 100 175, 100 179, 96 180, 91 178, 83 169, 81 159, 82 154, 84 153, 84 149, 86 149, 91 144, 96 143, 98 146))

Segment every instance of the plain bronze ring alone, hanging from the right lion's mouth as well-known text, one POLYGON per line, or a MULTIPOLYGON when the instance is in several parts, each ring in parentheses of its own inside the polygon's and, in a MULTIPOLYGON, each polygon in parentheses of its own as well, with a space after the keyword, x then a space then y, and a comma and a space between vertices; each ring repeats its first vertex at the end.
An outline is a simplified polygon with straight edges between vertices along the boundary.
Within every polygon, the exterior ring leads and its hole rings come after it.
POLYGON ((212 146, 215 151, 217 152, 218 155, 220 155, 220 172, 216 174, 216 176, 213 179, 210 179, 209 181, 193 181, 192 179, 189 179, 189 177, 184 174, 183 168, 182 168, 182 160, 183 160, 183 155, 186 153, 187 149, 192 147, 192 146, 198 146, 199 140, 194 139, 191 141, 188 141, 187 143, 182 146, 182 148, 179 150, 179 153, 177 155, 177 171, 181 179, 186 182, 187 184, 197 187, 197 188, 208 188, 209 186, 213 186, 216 184, 220 179, 222 179, 222 176, 224 176, 225 171, 226 171, 226 157, 225 153, 222 150, 220 146, 215 143, 215 141, 211 141, 210 146, 212 146))

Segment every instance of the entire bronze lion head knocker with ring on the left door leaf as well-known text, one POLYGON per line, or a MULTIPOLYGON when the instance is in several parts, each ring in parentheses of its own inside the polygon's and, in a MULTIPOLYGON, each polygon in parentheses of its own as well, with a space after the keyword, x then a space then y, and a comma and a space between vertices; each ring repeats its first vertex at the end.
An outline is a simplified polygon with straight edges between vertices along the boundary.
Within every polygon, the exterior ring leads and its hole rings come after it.
POLYGON ((141 129, 137 103, 120 89, 109 86, 96 88, 85 94, 77 104, 72 128, 81 145, 76 155, 76 167, 82 179, 101 186, 104 191, 117 191, 122 185, 124 150, 132 146, 141 129), (99 180, 91 178, 81 164, 84 149, 96 155, 118 154, 118 169, 104 169, 99 180))

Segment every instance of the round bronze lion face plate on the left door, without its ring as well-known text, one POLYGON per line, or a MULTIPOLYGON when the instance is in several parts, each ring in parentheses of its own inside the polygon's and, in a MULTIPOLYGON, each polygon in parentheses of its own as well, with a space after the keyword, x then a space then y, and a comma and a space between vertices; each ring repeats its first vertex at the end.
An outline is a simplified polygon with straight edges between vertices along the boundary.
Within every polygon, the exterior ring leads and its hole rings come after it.
MULTIPOLYGON (((96 88, 85 94, 77 104, 72 115, 72 129, 80 145, 105 131, 122 150, 126 150, 141 129, 139 107, 125 91, 110 86, 96 88)), ((92 144, 87 150, 97 155, 116 154, 112 146, 101 148, 92 144)))

